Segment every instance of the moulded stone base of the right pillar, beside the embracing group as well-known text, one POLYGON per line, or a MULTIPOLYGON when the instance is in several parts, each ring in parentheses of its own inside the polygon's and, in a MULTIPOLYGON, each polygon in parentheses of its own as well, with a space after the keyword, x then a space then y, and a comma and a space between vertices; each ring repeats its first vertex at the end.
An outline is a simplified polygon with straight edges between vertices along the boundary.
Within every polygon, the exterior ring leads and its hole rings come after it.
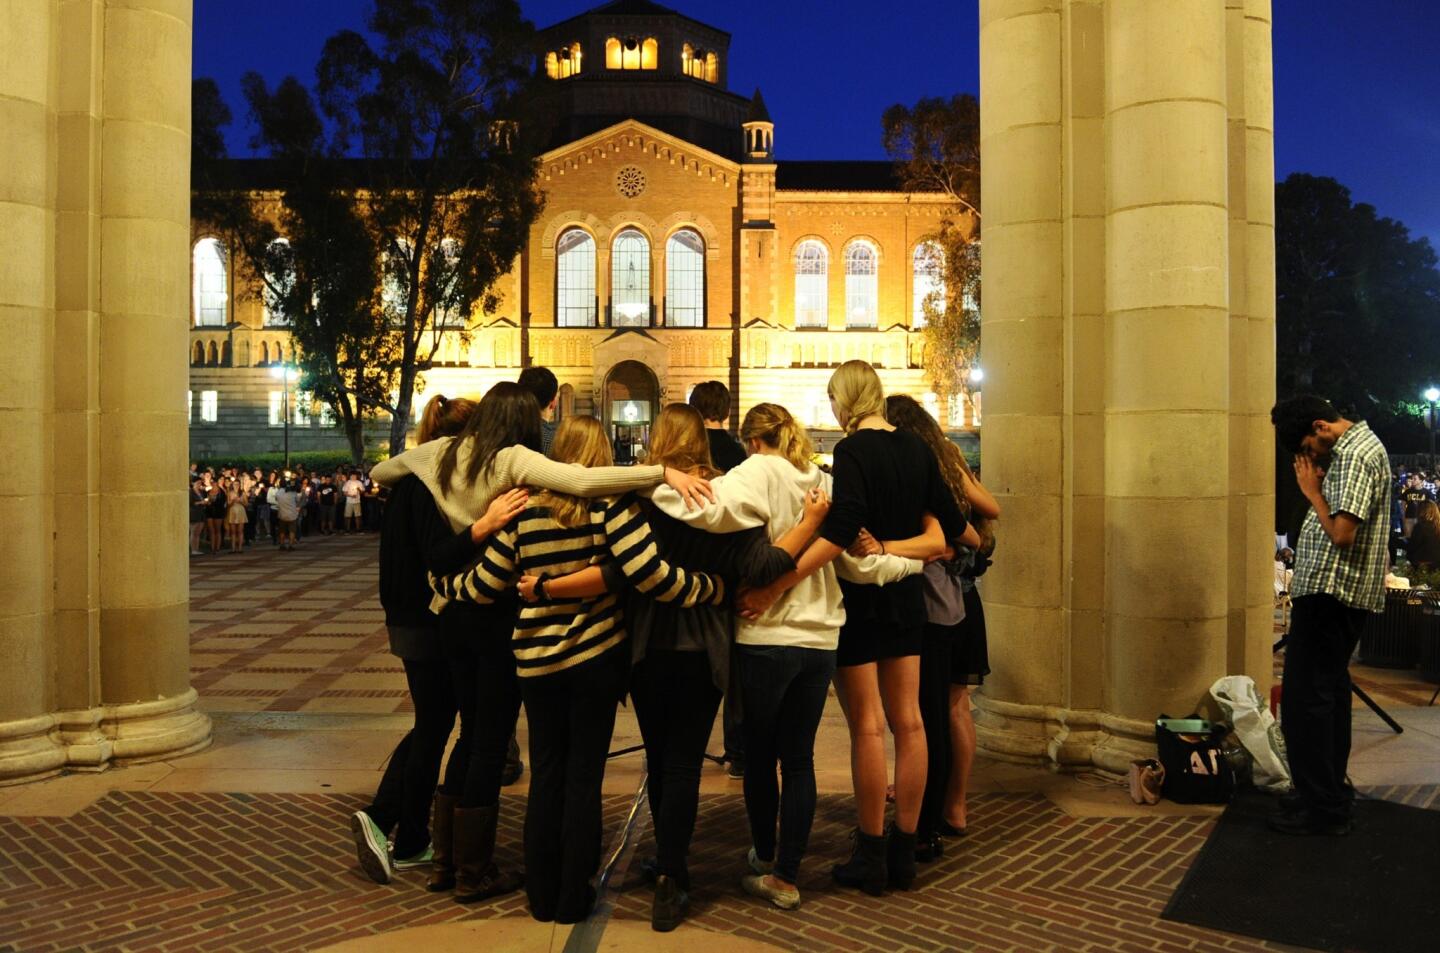
POLYGON ((975 734, 989 757, 1044 764, 1056 772, 1123 774, 1138 757, 1155 757, 1155 726, 1104 711, 1024 705, 973 695, 975 734))

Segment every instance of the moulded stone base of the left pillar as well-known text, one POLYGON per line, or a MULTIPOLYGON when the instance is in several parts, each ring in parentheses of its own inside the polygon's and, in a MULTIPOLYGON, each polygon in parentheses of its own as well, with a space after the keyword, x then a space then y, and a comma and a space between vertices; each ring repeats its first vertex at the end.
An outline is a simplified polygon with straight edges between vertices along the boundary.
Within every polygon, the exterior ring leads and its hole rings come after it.
POLYGON ((0 721, 0 786, 180 757, 210 744, 192 688, 174 698, 0 721))

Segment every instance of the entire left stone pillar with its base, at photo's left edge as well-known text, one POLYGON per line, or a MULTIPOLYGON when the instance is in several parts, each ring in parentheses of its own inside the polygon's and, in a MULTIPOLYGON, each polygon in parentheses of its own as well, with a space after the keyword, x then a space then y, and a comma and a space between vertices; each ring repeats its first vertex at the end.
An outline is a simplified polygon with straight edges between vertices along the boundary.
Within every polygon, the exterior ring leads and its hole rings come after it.
POLYGON ((0 23, 0 783, 204 746, 189 685, 189 0, 0 23))

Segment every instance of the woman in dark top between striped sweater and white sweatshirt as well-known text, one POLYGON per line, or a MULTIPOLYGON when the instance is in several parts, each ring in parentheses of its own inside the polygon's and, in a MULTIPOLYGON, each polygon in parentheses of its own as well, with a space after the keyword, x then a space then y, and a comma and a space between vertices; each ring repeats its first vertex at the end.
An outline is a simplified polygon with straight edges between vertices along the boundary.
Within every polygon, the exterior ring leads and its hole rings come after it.
MULTIPOLYGON (((696 476, 719 476, 711 465, 706 420, 683 403, 667 405, 657 415, 645 459, 696 476)), ((828 508, 825 492, 814 488, 806 494, 801 521, 772 544, 759 525, 716 536, 642 504, 667 560, 720 576, 730 589, 765 586, 795 569, 795 557, 828 508)), ((582 584, 580 573, 554 582, 582 584)), ((521 593, 530 584, 528 579, 521 580, 521 593)), ((592 584, 583 595, 605 590, 599 579, 592 579, 592 584)), ((631 697, 645 741, 647 790, 655 825, 657 857, 644 862, 647 877, 655 881, 651 926, 668 931, 680 926, 690 903, 687 857, 710 728, 721 697, 739 690, 730 682, 734 618, 729 606, 687 610, 632 590, 625 596, 625 628, 634 665, 631 697)), ((773 763, 770 770, 773 774, 773 763)))

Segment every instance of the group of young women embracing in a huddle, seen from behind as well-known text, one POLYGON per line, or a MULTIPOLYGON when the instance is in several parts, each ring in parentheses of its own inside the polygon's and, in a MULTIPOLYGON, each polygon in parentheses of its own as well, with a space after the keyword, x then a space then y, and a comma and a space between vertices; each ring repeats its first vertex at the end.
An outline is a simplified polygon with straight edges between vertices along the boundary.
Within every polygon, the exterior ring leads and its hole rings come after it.
POLYGON ((700 773, 721 698, 739 708, 744 739, 752 848, 737 867, 749 894, 801 903, 832 681, 857 809, 852 854, 834 880, 906 890, 917 861, 965 834, 966 692, 988 674, 973 579, 999 511, 935 419, 910 397, 886 399, 870 364, 841 366, 828 390, 847 433, 831 472, 773 403, 744 416, 749 456, 721 474, 688 405, 661 409, 647 465, 612 466, 605 428, 588 416, 546 433, 541 453, 541 405, 518 383, 478 403, 431 400, 418 446, 372 472, 392 488, 382 602, 416 711, 387 783, 351 819, 374 880, 429 864, 431 890, 459 901, 523 884, 537 920, 586 918, 600 785, 626 695, 645 743, 655 857, 642 868, 657 930, 688 907, 700 773), (521 704, 531 766, 523 875, 495 862, 521 704), (459 739, 436 787, 456 710, 459 739))

